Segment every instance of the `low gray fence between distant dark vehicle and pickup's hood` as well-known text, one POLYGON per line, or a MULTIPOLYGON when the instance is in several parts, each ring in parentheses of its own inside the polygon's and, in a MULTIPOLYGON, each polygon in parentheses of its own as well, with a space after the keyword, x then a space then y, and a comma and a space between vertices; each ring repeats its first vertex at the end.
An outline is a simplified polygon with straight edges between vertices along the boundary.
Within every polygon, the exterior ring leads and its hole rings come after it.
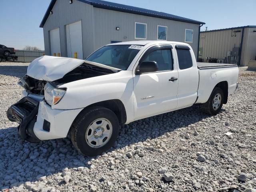
POLYGON ((44 51, 15 50, 15 53, 18 56, 17 62, 32 62, 34 59, 44 55, 44 51))

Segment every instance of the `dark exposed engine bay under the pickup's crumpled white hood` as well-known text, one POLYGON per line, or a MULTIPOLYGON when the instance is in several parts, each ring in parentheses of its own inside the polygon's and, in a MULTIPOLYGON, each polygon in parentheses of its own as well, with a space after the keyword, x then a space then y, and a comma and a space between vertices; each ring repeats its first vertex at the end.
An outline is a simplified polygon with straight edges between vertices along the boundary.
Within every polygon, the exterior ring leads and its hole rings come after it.
MULTIPOLYGON (((112 74, 116 72, 118 71, 83 63, 82 65, 78 66, 74 70, 65 74, 62 78, 52 81, 51 84, 55 87, 58 87, 65 83, 86 79, 86 78, 92 78, 96 76, 112 74)), ((23 76, 18 82, 18 84, 24 87, 24 89, 28 93, 38 94, 38 95, 44 95, 44 86, 46 83, 47 81, 37 80, 28 75, 23 76)))

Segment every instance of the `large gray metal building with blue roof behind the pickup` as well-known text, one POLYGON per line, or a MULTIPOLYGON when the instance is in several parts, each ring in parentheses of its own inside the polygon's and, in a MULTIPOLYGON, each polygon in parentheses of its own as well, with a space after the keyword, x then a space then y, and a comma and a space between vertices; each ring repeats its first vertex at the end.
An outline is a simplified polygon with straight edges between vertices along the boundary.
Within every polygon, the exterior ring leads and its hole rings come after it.
POLYGON ((40 24, 46 55, 86 58, 106 44, 131 40, 188 42, 197 56, 196 20, 102 0, 52 0, 40 24))

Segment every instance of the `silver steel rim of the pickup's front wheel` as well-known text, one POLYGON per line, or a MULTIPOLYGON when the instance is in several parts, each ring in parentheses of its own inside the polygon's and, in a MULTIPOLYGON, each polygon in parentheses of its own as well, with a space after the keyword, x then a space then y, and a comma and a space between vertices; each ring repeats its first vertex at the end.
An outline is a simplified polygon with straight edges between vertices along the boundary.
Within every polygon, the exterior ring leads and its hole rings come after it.
POLYGON ((94 120, 86 130, 85 140, 92 148, 100 148, 108 143, 113 132, 112 124, 108 119, 94 120))

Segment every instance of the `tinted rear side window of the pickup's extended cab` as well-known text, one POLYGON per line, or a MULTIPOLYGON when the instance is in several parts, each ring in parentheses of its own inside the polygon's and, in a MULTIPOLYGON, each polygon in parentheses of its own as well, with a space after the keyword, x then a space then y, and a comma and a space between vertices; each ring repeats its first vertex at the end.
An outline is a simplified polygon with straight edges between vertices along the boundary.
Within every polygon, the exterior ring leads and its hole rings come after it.
POLYGON ((190 50, 176 49, 180 69, 187 69, 193 66, 190 50))

